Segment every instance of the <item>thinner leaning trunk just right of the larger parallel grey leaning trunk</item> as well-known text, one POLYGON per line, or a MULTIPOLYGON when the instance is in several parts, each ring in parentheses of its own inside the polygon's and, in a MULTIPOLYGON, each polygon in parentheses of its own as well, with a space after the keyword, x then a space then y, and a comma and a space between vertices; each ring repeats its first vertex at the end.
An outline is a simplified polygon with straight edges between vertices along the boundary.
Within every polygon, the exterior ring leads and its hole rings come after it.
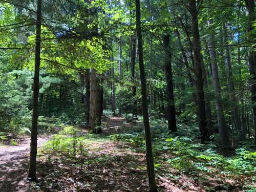
MULTIPOLYGON (((223 34, 225 35, 225 44, 227 44, 228 38, 227 38, 227 30, 226 25, 223 23, 223 34)), ((231 66, 231 60, 230 60, 230 52, 229 47, 225 47, 225 58, 226 58, 226 66, 227 66, 227 73, 228 73, 228 82, 229 82, 229 93, 230 93, 230 100, 232 105, 232 112, 233 112, 233 118, 234 118, 234 126, 236 127, 236 130, 241 132, 241 121, 238 114, 238 100, 236 97, 236 91, 234 90, 234 82, 233 82, 233 73, 232 73, 232 66, 231 66)))

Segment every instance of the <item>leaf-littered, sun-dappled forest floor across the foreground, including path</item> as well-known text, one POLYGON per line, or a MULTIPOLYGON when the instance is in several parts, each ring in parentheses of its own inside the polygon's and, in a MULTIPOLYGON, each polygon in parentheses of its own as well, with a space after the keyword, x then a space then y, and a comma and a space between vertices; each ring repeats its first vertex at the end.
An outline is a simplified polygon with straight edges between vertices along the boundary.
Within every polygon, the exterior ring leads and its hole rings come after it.
MULTIPOLYGON (((142 130, 142 123, 127 123, 122 117, 104 117, 102 134, 88 134, 87 130, 80 128, 80 133, 72 136, 68 128, 53 136, 39 150, 38 181, 34 183, 26 180, 29 138, 15 147, 0 146, 0 191, 147 191, 143 151, 135 149, 134 140, 124 142, 112 138, 126 134, 126 130, 131 129, 142 130)), ((47 140, 39 138, 38 145, 47 140)), ((243 185, 252 182, 248 176, 226 177, 218 173, 220 170, 216 173, 189 175, 179 172, 172 164, 160 162, 161 157, 175 156, 168 153, 156 154, 159 191, 234 192, 244 191, 243 185)))

